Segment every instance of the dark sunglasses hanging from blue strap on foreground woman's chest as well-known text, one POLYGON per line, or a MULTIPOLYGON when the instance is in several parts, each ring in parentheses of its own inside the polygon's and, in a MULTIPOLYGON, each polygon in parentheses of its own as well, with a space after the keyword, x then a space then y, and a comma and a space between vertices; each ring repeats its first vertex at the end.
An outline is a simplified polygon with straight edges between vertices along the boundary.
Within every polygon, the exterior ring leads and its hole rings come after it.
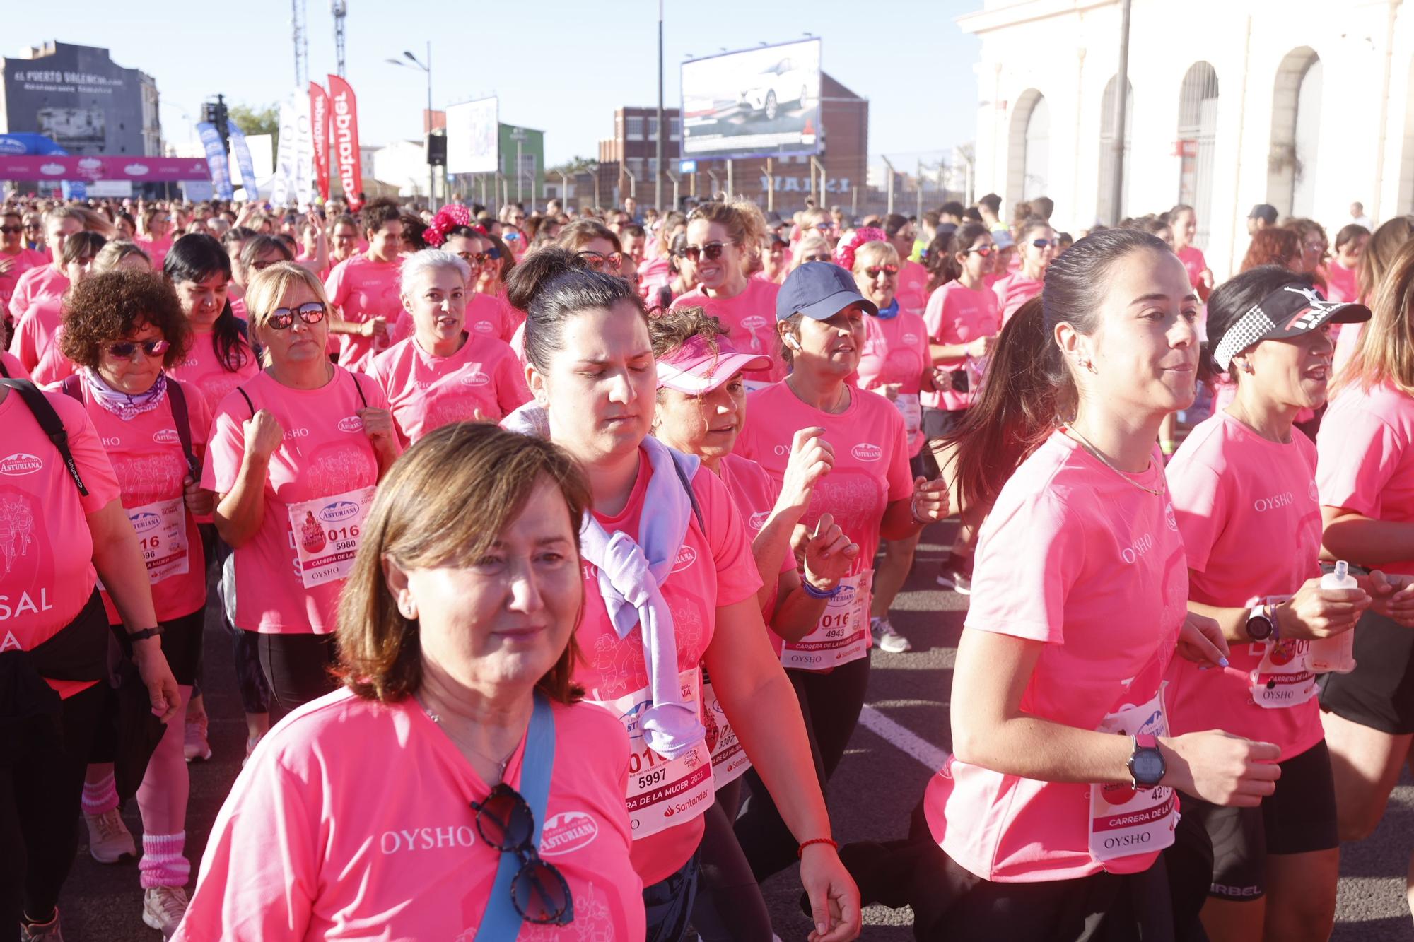
POLYGON ((505 782, 491 789, 484 802, 471 802, 477 832, 501 853, 520 857, 520 870, 510 881, 510 902, 516 912, 536 925, 574 922, 574 897, 564 876, 540 859, 536 850, 534 813, 520 792, 505 782))

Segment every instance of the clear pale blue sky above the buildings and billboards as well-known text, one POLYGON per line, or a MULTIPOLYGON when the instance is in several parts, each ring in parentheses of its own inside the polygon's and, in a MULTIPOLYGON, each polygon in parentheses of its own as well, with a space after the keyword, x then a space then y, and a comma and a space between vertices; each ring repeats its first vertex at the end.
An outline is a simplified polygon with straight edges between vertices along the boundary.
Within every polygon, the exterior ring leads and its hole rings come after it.
MULTIPOLYGON (((310 76, 334 71, 327 0, 308 6, 310 76)), ((274 102, 294 85, 288 0, 66 0, 4 4, 0 54, 47 40, 112 50, 120 65, 156 76, 163 132, 189 134, 187 115, 222 92, 228 102, 274 102)), ((385 59, 433 40, 433 105, 498 95, 501 120, 546 130, 546 160, 597 156, 614 109, 656 103, 655 0, 348 0, 346 78, 359 96, 365 144, 421 133, 426 79, 385 59)), ((677 102, 686 55, 823 40, 826 72, 870 99, 870 151, 895 164, 932 160, 976 134, 980 42, 954 18, 981 0, 666 0, 665 105, 677 102), (902 163, 901 163, 902 161, 902 163)))

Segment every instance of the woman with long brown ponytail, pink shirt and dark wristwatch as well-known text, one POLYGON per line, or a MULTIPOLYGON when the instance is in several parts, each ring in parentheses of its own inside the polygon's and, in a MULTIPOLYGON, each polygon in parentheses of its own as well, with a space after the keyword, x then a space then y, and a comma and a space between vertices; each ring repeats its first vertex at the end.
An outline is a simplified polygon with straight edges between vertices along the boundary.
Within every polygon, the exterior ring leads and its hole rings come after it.
POLYGON ((1003 328, 960 430, 960 487, 991 512, 953 755, 909 840, 847 854, 865 898, 913 907, 918 938, 1189 938, 1210 867, 1175 833, 1174 791, 1256 806, 1275 786, 1277 745, 1169 735, 1161 694, 1175 653, 1226 663, 1217 624, 1186 612, 1154 447, 1193 400, 1196 317, 1167 245, 1107 229, 1003 328))

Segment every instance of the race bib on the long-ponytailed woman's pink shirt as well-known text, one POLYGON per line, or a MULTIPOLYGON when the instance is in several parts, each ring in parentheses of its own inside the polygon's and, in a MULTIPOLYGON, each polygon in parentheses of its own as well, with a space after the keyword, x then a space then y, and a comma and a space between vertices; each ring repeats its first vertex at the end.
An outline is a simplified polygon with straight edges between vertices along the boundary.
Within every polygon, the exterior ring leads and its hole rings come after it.
MULTIPOLYGON (((1124 706, 1097 727, 1117 735, 1168 735, 1164 692, 1140 706, 1124 706)), ((1128 782, 1090 785, 1090 856, 1097 861, 1164 850, 1174 843, 1178 799, 1172 788, 1134 788, 1128 782)))

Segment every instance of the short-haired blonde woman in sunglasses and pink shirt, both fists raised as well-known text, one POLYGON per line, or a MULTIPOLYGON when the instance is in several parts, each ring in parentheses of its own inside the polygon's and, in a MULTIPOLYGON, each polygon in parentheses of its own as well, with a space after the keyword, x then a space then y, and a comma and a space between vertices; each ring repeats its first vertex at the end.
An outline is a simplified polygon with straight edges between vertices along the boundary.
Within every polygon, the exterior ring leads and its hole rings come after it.
POLYGON ((235 549, 232 624, 259 635, 270 690, 291 709, 331 689, 335 605, 399 444, 383 390, 324 352, 318 279, 280 262, 246 301, 266 371, 216 406, 201 482, 235 549))

